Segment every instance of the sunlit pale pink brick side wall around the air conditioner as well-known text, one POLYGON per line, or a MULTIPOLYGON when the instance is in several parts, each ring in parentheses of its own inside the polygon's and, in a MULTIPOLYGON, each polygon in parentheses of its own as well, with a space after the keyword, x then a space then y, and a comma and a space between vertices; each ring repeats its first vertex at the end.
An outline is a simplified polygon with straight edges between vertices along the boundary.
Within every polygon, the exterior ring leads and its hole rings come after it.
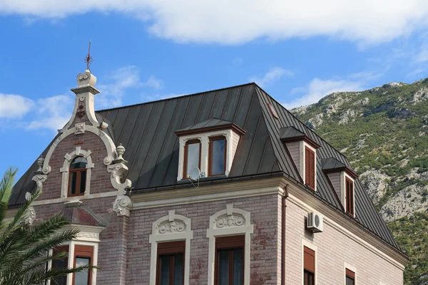
POLYGON ((345 262, 356 269, 357 284, 403 284, 401 269, 361 244, 345 236, 329 224, 324 232, 305 230, 305 209, 287 201, 286 218, 286 284, 302 284, 302 239, 315 245, 317 251, 317 284, 345 284, 345 262))

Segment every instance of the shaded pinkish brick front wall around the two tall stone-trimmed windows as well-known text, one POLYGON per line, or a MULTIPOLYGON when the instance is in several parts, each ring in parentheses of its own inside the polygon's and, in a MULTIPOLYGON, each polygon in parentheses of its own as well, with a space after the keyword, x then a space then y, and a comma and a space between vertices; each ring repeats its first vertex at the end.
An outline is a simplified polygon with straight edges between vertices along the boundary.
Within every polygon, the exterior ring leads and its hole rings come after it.
POLYGON ((251 212, 254 234, 251 235, 250 279, 252 285, 280 284, 280 197, 269 195, 242 199, 228 199, 175 207, 139 209, 131 212, 128 240, 127 284, 148 284, 150 274, 152 223, 168 215, 182 214, 192 219, 193 240, 190 247, 190 284, 207 284, 208 238, 210 216, 226 209, 226 204, 251 212))

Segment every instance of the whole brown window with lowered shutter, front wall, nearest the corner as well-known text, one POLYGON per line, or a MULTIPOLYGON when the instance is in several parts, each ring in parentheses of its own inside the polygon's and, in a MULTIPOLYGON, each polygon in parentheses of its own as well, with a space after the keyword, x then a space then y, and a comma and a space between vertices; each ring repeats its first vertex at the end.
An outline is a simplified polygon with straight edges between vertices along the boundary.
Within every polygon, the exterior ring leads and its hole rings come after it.
POLYGON ((245 236, 215 239, 215 285, 244 284, 245 236))

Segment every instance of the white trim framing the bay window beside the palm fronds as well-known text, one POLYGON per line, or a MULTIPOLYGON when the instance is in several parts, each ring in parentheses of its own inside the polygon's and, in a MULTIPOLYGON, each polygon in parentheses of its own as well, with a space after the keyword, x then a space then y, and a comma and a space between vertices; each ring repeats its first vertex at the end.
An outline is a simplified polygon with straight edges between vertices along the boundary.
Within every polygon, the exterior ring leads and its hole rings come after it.
MULTIPOLYGON (((76 245, 82 245, 86 247, 93 247, 93 255, 91 265, 97 266, 98 264, 98 244, 100 242, 100 232, 104 229, 103 227, 85 226, 81 224, 71 224, 68 229, 79 229, 76 239, 66 242, 63 245, 68 245, 68 267, 74 266, 74 248, 76 245)), ((49 250, 49 255, 53 254, 53 249, 49 250)), ((48 269, 52 268, 52 261, 48 262, 48 269)), ((67 274, 67 285, 73 284, 73 274, 67 274)), ((48 280, 46 285, 54 285, 51 280, 48 280)), ((92 269, 91 285, 96 285, 96 268, 92 269)))

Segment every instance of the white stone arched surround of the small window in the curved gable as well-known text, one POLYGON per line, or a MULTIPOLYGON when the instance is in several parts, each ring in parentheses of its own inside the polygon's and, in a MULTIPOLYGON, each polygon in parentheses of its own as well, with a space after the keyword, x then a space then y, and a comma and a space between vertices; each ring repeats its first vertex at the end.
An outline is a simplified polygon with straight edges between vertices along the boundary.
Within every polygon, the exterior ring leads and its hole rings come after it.
MULTIPOLYGON (((84 197, 87 197, 91 192, 91 169, 93 168, 92 158, 91 158, 91 150, 82 150, 81 147, 76 147, 71 153, 66 153, 64 155, 63 167, 60 168, 60 172, 62 173, 62 182, 61 182, 61 198, 66 198, 68 196, 68 178, 70 175, 70 164, 76 157, 84 157, 86 159, 86 185, 85 192, 83 194, 84 197)), ((79 196, 76 196, 79 197, 79 196)))

